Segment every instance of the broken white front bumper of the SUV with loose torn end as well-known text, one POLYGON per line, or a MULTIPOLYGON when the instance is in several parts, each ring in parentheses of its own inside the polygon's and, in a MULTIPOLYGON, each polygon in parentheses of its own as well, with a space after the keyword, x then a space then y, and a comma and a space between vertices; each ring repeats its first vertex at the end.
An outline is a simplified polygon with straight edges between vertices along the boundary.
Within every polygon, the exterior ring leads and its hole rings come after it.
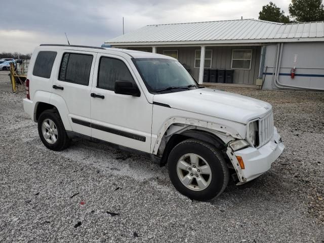
POLYGON ((237 173, 239 183, 243 184, 262 175, 271 168, 271 164, 284 151, 285 146, 281 141, 277 129, 274 128, 273 136, 268 143, 260 148, 248 147, 238 151, 227 148, 227 155, 237 173), (241 169, 236 156, 240 156, 244 162, 245 169, 241 169))

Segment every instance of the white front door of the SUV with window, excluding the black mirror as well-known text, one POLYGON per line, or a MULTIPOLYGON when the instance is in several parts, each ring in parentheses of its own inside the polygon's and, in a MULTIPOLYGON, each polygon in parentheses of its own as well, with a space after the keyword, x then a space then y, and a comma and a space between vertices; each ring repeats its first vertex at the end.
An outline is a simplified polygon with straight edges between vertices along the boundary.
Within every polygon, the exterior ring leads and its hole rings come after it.
POLYGON ((91 94, 92 137, 150 152, 152 104, 126 59, 98 54, 91 94), (115 94, 116 80, 132 82, 141 95, 115 94))

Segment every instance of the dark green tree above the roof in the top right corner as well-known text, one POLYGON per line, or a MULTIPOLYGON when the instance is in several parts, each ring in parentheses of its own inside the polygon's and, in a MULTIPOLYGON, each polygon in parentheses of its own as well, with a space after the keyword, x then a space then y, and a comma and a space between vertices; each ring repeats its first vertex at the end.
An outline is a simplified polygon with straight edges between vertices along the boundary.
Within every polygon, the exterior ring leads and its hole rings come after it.
POLYGON ((298 22, 324 20, 324 9, 321 0, 292 0, 289 13, 298 22))

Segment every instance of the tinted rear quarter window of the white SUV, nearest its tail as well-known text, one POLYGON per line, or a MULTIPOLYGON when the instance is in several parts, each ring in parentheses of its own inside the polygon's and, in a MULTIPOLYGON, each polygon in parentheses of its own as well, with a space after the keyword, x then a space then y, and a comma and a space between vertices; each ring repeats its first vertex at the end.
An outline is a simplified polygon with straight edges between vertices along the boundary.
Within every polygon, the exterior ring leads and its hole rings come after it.
POLYGON ((57 52, 39 52, 32 75, 50 78, 57 52))

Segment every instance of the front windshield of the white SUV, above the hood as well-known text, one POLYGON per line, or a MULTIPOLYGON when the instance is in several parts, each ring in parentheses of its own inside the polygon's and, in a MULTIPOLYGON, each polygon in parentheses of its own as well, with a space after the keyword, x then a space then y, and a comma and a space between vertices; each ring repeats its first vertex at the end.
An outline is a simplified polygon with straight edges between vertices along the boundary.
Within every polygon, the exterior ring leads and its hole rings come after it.
POLYGON ((197 88, 193 77, 177 60, 135 58, 133 61, 150 92, 179 92, 188 90, 188 86, 197 88))

